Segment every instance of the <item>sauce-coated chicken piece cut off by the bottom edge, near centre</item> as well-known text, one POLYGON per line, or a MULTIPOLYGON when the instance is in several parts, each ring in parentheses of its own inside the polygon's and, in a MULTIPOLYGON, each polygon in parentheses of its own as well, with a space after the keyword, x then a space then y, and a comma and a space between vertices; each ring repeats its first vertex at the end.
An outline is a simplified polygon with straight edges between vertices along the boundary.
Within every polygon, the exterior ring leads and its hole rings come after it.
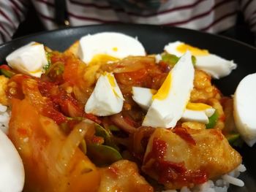
POLYGON ((151 192, 154 189, 138 173, 135 163, 127 160, 101 169, 101 183, 98 192, 151 192))

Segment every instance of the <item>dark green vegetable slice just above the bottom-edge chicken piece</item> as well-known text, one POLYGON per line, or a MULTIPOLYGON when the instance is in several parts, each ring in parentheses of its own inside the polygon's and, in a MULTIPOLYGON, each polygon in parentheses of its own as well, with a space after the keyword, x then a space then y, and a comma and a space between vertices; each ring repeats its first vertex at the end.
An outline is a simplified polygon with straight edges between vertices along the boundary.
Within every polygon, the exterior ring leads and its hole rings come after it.
POLYGON ((118 150, 107 145, 88 144, 87 155, 98 166, 106 166, 121 160, 122 156, 118 150))

